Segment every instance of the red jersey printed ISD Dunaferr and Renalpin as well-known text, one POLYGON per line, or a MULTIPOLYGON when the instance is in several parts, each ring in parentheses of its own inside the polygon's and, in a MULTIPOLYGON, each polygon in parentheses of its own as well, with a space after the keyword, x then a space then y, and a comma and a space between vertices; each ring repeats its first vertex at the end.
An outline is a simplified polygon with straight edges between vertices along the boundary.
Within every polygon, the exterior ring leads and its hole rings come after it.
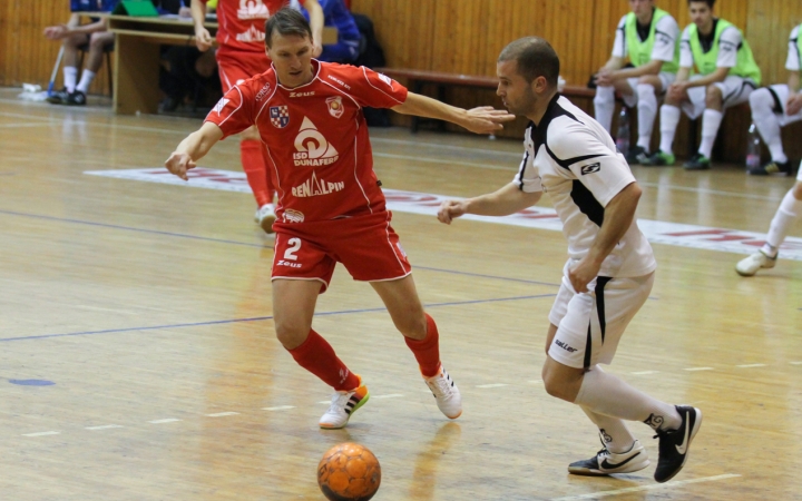
POLYGON ((407 89, 368 68, 312 60, 311 82, 288 89, 271 69, 233 87, 206 121, 224 137, 256 125, 285 223, 385 210, 362 107, 392 108, 407 89))

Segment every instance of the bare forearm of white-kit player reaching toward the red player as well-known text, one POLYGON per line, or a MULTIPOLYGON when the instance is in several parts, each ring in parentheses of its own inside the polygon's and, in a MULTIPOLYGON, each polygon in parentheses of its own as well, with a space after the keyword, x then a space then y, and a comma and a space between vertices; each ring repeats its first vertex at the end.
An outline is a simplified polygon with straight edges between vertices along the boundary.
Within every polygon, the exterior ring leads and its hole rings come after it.
POLYGON ((479 216, 509 216, 527 207, 531 207, 540 199, 542 191, 526 193, 518 188, 516 183, 505 185, 493 193, 467 198, 464 200, 446 200, 440 204, 438 220, 450 225, 457 217, 466 214, 479 216))

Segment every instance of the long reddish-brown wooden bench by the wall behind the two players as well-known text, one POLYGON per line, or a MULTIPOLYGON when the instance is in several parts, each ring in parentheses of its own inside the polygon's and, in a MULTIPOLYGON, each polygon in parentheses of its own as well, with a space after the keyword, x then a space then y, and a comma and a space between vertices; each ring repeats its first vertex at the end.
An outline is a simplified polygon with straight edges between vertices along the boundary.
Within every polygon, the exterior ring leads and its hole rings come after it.
MULTIPOLYGON (((437 87, 437 98, 440 101, 446 100, 447 87, 473 87, 480 89, 496 89, 498 87, 497 77, 487 77, 481 75, 458 75, 407 68, 375 68, 375 70, 395 80, 407 81, 407 88, 415 94, 422 94, 423 86, 426 85, 434 85, 437 87)), ((593 99, 596 91, 594 89, 588 89, 587 87, 566 86, 561 94, 567 97, 584 97, 593 99)), ((411 129, 413 134, 418 131, 419 124, 420 118, 412 117, 411 129)), ((444 122, 440 122, 440 125, 441 128, 444 127, 444 122)))

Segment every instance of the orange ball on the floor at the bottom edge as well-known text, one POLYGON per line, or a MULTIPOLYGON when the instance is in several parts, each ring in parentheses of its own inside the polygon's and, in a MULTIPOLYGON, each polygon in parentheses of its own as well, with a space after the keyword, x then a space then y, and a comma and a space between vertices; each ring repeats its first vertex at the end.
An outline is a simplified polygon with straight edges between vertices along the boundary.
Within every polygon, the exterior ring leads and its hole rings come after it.
POLYGON ((368 501, 381 484, 379 460, 358 443, 334 445, 317 464, 317 484, 331 501, 368 501))

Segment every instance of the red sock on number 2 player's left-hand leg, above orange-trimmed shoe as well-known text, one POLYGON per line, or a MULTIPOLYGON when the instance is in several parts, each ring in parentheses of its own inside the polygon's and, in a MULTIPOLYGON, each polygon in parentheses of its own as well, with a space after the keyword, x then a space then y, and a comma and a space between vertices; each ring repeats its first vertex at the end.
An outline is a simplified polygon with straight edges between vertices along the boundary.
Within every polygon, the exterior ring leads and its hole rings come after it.
POLYGON ((356 374, 349 371, 345 364, 338 358, 331 344, 311 328, 309 337, 301 346, 287 351, 299 365, 336 391, 346 392, 360 385, 356 374))

